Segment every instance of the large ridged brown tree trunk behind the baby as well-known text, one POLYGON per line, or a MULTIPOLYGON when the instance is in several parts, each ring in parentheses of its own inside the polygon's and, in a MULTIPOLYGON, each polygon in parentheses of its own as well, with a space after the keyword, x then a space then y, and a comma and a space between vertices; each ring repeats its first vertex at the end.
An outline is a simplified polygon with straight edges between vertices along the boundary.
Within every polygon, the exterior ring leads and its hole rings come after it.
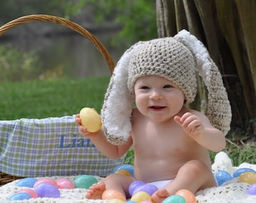
MULTIPOLYGON (((230 99, 231 129, 256 135, 256 1, 156 0, 160 38, 187 29, 197 36, 218 65, 230 99)), ((205 112, 206 89, 192 105, 205 112), (202 102, 203 101, 203 102, 202 102)))

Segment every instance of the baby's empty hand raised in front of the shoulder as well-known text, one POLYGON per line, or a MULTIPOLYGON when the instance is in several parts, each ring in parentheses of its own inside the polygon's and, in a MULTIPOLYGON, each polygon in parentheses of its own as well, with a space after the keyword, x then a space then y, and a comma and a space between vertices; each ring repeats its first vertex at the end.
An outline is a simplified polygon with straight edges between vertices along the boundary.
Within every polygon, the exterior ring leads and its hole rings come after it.
POLYGON ((203 123, 200 121, 199 117, 194 114, 187 112, 182 117, 175 116, 174 120, 191 138, 196 139, 203 134, 203 123))

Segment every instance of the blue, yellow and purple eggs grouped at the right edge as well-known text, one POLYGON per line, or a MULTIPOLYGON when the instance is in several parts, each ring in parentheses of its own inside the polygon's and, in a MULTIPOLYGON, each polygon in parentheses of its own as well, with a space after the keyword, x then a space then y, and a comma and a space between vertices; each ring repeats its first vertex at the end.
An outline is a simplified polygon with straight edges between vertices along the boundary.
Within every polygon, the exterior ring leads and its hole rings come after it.
POLYGON ((215 174, 218 186, 221 186, 234 178, 238 178, 239 183, 248 183, 250 185, 247 190, 248 195, 256 195, 256 172, 253 169, 239 168, 233 172, 233 175, 222 170, 215 174))

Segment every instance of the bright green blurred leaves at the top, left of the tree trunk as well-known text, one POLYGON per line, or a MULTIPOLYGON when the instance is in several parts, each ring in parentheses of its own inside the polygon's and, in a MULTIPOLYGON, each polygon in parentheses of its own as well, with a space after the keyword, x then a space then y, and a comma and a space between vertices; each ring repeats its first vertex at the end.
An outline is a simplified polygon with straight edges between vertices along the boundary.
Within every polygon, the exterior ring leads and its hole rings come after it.
POLYGON ((114 46, 134 44, 136 41, 157 38, 157 22, 154 1, 147 0, 78 0, 67 7, 67 17, 90 9, 95 23, 102 26, 121 26, 114 38, 114 46))

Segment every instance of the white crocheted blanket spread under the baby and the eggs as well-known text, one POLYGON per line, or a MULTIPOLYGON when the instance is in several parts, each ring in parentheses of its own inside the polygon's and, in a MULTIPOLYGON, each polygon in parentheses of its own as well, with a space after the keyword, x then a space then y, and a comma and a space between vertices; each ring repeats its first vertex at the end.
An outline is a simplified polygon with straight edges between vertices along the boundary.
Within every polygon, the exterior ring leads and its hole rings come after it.
MULTIPOLYGON (((212 171, 215 173, 219 170, 224 170, 233 174, 238 168, 252 168, 256 171, 256 165, 249 163, 242 163, 238 167, 232 165, 231 160, 226 153, 218 153, 215 157, 215 162, 212 165, 212 171)), ((40 177, 38 177, 40 178, 40 177)), ((60 177, 50 177, 54 180, 60 177)), ((75 177, 66 177, 70 180, 74 180, 75 177)), ((102 180, 101 177, 96 177, 102 180)), ((90 200, 84 197, 87 189, 60 189, 60 198, 30 198, 29 200, 22 201, 8 201, 11 195, 19 192, 20 188, 15 185, 19 180, 15 180, 12 183, 8 183, 0 187, 0 202, 15 202, 15 203, 60 203, 60 202, 74 202, 74 203, 90 203, 90 202, 107 202, 103 200, 90 200)), ((224 183, 222 186, 212 187, 197 192, 196 198, 198 203, 254 203, 256 202, 256 195, 248 195, 249 185, 247 183, 238 183, 237 178, 230 180, 228 183, 224 183)))

